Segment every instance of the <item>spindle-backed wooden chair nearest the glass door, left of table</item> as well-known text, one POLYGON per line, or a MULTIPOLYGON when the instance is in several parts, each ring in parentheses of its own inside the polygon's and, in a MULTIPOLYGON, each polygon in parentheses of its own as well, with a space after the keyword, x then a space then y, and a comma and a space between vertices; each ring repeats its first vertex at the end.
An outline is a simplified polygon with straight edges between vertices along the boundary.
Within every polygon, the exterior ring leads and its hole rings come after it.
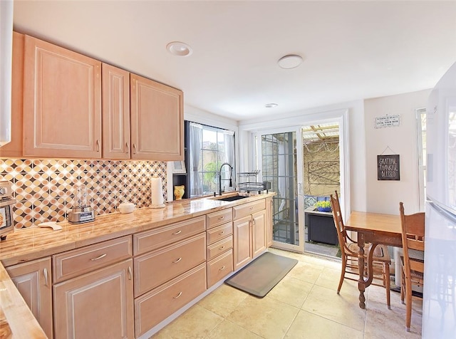
MULTIPOLYGON (((342 271, 339 286, 337 288, 337 294, 340 293, 343 280, 358 281, 359 279, 359 268, 358 268, 358 251, 359 247, 356 241, 348 236, 343 224, 343 218, 341 213, 341 205, 339 204, 337 191, 335 195, 331 194, 331 209, 333 210, 334 224, 337 230, 337 236, 339 246, 341 246, 341 259, 342 259, 342 271), (353 276, 354 275, 354 276, 353 276)), ((365 246, 365 270, 367 272, 367 251, 370 244, 365 246)), ((373 253, 373 277, 375 281, 372 285, 383 286, 386 289, 386 304, 390 308, 390 264, 391 259, 388 253, 388 248, 385 245, 377 245, 373 253)))

